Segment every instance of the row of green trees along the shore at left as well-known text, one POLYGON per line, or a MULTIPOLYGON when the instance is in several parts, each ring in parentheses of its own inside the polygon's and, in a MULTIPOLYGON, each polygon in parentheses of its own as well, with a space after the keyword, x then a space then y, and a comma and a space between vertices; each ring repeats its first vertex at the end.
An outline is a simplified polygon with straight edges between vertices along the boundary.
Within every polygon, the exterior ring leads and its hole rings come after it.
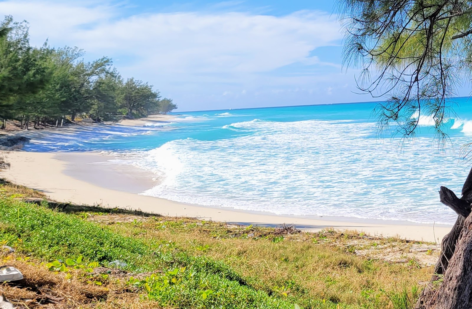
POLYGON ((0 23, 0 118, 21 128, 75 121, 96 122, 165 114, 177 108, 147 82, 123 79, 109 57, 84 60, 76 47, 29 43, 28 26, 6 16, 0 23))

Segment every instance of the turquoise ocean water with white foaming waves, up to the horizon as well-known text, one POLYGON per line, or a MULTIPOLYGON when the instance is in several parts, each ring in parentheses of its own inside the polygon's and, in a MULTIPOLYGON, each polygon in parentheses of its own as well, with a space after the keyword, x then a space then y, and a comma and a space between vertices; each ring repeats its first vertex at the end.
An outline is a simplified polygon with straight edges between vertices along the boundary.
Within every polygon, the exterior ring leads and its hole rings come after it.
POLYGON ((445 153, 421 117, 417 138, 380 139, 376 103, 175 113, 146 127, 100 125, 42 134, 28 151, 97 151, 152 171, 143 194, 179 202, 275 214, 453 223, 438 189, 460 194, 470 165, 459 147, 472 141, 472 105, 456 99, 445 153))

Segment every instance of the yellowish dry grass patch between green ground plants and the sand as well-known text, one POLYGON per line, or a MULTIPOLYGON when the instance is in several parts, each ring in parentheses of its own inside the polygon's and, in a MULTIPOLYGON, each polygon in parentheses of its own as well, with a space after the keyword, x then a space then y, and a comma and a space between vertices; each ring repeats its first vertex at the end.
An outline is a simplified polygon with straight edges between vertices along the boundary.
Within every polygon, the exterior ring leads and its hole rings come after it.
MULTIPOLYGON (((378 238, 334 230, 280 235, 271 228, 227 225, 188 218, 93 216, 120 234, 148 243, 168 243, 193 255, 222 260, 258 289, 303 293, 343 304, 388 303, 381 290, 418 285, 430 278, 437 257, 412 248, 434 244, 378 238), (111 220, 109 220, 111 219, 111 220), (352 250, 358 247, 359 251, 352 250), (388 248, 388 250, 387 250, 388 248), (356 252, 357 251, 357 252, 356 252), (392 251, 402 259, 388 260, 392 251), (384 252, 384 255, 381 255, 384 252), (403 257, 408 256, 408 259, 403 257), (428 263, 420 263, 428 260, 428 263), (431 261, 434 261, 431 263, 431 261)), ((429 250, 429 249, 428 249, 429 250)), ((374 307, 372 307, 374 308, 374 307)))

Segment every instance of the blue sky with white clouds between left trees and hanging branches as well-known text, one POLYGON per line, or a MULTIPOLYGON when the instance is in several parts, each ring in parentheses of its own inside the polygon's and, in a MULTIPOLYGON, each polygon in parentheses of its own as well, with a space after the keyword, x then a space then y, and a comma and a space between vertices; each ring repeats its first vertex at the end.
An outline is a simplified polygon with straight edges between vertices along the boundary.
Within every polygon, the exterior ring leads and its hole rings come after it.
POLYGON ((333 0, 0 0, 31 44, 112 58, 178 111, 378 100, 343 69, 333 0))

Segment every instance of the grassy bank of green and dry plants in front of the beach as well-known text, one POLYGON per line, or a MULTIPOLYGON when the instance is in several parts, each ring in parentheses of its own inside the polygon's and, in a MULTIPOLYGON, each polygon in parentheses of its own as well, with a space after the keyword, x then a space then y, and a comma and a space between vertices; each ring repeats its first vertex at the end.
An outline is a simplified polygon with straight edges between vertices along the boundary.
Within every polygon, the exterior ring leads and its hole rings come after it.
POLYGON ((3 263, 26 271, 0 290, 15 298, 28 288, 38 299, 45 286, 62 298, 55 308, 409 308, 432 271, 420 258, 432 249, 408 255, 427 244, 36 205, 22 201, 41 197, 33 190, 0 190, 0 239, 17 250, 3 263), (393 251, 401 261, 379 256, 393 251))

